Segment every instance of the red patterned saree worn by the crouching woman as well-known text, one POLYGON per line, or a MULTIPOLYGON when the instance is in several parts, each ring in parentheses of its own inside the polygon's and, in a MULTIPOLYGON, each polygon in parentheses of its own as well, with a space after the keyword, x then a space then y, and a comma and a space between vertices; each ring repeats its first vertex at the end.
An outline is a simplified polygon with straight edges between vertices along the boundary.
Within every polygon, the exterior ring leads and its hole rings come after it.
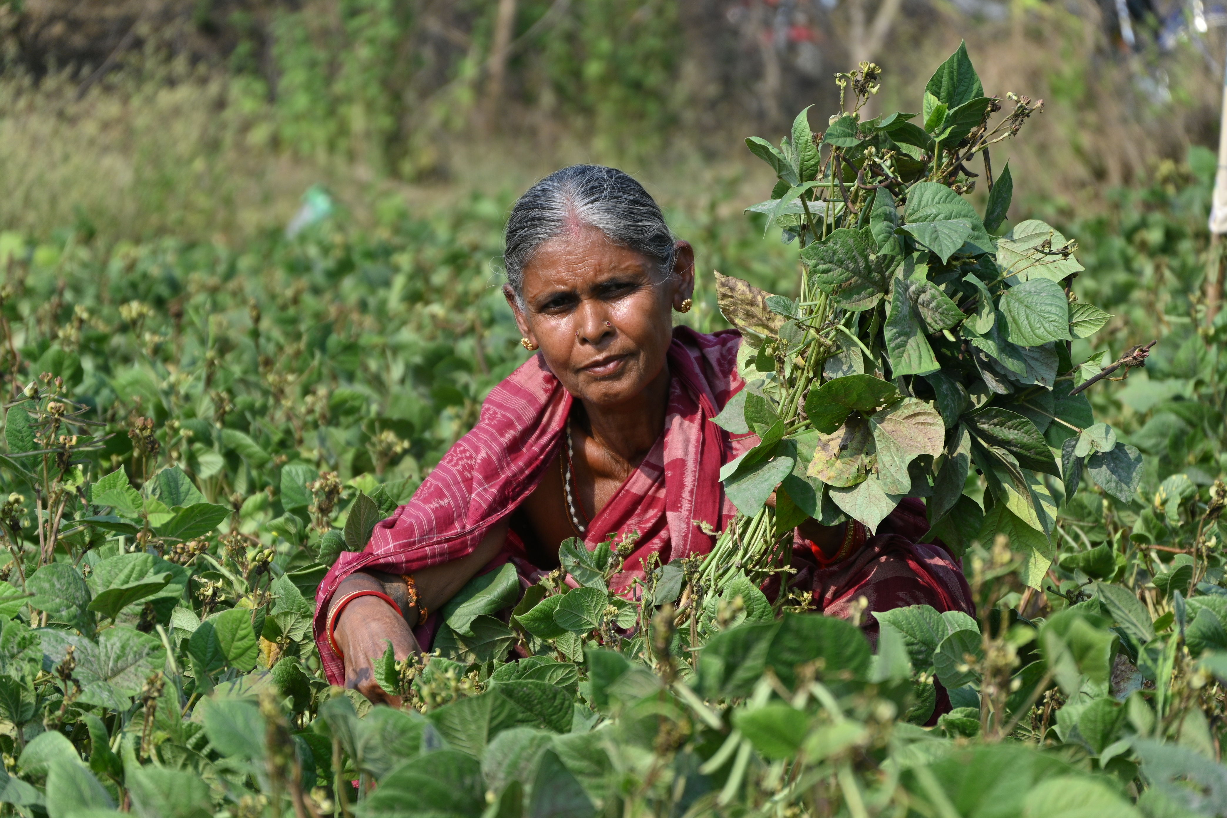
MULTIPOLYGON (((712 418, 744 385, 736 370, 740 342, 731 330, 715 335, 688 327, 674 331, 664 433, 587 531, 589 548, 610 535, 639 535, 625 570, 610 583, 614 592, 629 592, 652 553, 663 563, 708 553, 715 537, 704 531, 723 529, 736 513, 720 486, 720 466, 757 438, 730 435, 712 418)), ((490 392, 477 426, 452 446, 412 500, 375 525, 363 551, 340 556, 315 595, 315 641, 329 681, 344 684, 345 677, 344 663, 323 633, 341 581, 356 570, 410 574, 471 553, 491 526, 512 514, 541 482, 566 437, 572 402, 541 356, 534 356, 490 392)), ((971 594, 957 562, 940 545, 915 542, 926 529, 924 508, 915 500, 904 503, 864 548, 833 567, 820 569, 804 545, 795 548, 794 565, 801 570, 789 584, 804 581, 816 606, 836 614, 850 611, 859 596, 869 598, 870 611, 924 602, 971 612, 971 594)), ((514 532, 490 568, 507 562, 524 581, 545 573, 529 562, 514 532)), ((871 616, 863 624, 876 629, 871 616)), ((417 628, 423 646, 437 625, 432 613, 417 628)))

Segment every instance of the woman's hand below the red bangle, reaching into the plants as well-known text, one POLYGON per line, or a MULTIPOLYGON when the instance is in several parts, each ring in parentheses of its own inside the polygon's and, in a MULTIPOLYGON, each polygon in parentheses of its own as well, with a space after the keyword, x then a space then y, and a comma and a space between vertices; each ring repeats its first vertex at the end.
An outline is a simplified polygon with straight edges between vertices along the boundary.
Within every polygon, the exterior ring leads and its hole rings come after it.
POLYGON ((421 650, 409 623, 379 597, 360 596, 341 611, 333 635, 345 655, 345 687, 374 704, 399 708, 400 697, 390 695, 375 682, 374 661, 388 650, 388 641, 398 661, 421 650))

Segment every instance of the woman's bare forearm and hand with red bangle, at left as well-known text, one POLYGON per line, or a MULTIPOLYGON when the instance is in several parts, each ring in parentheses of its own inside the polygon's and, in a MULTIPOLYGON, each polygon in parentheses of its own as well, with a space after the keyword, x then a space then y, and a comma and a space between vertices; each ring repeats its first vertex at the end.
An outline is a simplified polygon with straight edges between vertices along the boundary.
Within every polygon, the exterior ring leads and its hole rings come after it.
MULTIPOLYGON (((420 605, 428 611, 447 605, 465 583, 498 554, 506 538, 507 524, 501 522, 486 532, 469 556, 415 571, 413 583, 420 605)), ((396 616, 390 605, 374 596, 360 596, 345 606, 333 630, 336 645, 345 656, 345 686, 358 690, 375 704, 400 706, 400 700, 388 695, 375 682, 373 662, 388 650, 389 640, 398 660, 421 650, 412 632, 417 625, 417 608, 409 607, 405 580, 395 574, 375 570, 355 571, 347 576, 333 595, 333 605, 347 594, 362 590, 387 594, 396 601, 405 616, 396 616)))

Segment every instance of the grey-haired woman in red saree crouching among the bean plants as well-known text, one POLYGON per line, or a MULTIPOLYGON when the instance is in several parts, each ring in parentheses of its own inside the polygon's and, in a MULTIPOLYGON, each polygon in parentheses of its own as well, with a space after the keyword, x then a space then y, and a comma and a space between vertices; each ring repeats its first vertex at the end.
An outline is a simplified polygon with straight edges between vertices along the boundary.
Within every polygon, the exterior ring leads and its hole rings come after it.
MULTIPOLYGON (((373 700, 387 699, 372 675, 387 640, 398 657, 428 648, 433 612, 477 573, 512 562, 531 583, 558 567, 568 537, 596 548, 637 531, 611 583, 626 592, 650 553, 666 563, 710 551, 713 529, 701 524, 720 529, 735 513, 720 466, 756 441, 712 422, 744 385, 741 338, 674 327, 671 313, 691 307, 694 253, 639 183, 612 168, 563 168, 515 204, 506 244, 503 292, 537 354, 491 391, 476 428, 364 551, 341 554, 317 595, 329 679, 373 700)), ((810 520, 795 540, 791 584, 823 612, 849 616, 861 596, 870 611, 972 612, 957 562, 915 542, 926 529, 918 502, 871 538, 848 525, 810 520)))

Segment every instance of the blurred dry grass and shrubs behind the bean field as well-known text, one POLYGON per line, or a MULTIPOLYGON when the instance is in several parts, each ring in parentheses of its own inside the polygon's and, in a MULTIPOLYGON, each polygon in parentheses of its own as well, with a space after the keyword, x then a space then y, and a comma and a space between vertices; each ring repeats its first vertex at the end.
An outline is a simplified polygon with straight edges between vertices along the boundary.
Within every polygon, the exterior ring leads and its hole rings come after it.
POLYGON ((1015 208, 1067 222, 1215 143, 1227 16, 1167 2, 0 0, 0 224, 236 247, 317 183, 369 227, 589 161, 741 229, 745 136, 834 110, 859 60, 914 109, 960 38, 989 93, 1045 101, 1015 208))

